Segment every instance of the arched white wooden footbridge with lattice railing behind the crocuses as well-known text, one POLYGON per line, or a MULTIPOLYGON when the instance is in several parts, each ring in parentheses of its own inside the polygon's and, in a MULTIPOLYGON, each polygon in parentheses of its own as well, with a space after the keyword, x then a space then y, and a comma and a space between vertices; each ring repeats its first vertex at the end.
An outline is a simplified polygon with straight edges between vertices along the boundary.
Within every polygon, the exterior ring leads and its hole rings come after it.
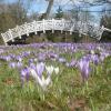
POLYGON ((69 31, 70 34, 72 32, 79 32, 79 34, 89 34, 92 38, 95 38, 98 40, 101 39, 101 36, 104 30, 110 31, 110 29, 104 28, 103 26, 100 27, 95 23, 89 23, 89 22, 82 22, 82 21, 75 21, 75 20, 42 20, 42 21, 32 21, 30 23, 24 23, 22 26, 17 26, 13 29, 9 29, 7 32, 1 33, 2 39, 6 44, 8 44, 9 41, 14 41, 16 38, 21 39, 22 36, 34 32, 36 34, 39 31, 42 31, 46 33, 46 31, 51 30, 52 33, 54 33, 54 30, 69 31))

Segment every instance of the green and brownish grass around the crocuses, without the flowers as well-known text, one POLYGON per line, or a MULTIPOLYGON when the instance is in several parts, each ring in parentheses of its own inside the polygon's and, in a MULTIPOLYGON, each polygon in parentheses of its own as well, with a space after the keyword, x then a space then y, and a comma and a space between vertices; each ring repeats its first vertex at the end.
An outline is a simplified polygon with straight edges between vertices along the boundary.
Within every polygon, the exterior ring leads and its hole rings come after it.
MULTIPOLYGON (((12 53, 19 51, 11 50, 12 53)), ((80 59, 83 54, 79 51, 73 57, 80 59)), ((71 59, 68 53, 61 57, 71 59)), ((53 61, 52 64, 60 67, 60 73, 52 75, 53 82, 47 91, 33 79, 22 88, 19 70, 10 69, 6 61, 0 63, 0 111, 111 111, 111 57, 94 68, 88 84, 82 82, 77 68, 53 61)))

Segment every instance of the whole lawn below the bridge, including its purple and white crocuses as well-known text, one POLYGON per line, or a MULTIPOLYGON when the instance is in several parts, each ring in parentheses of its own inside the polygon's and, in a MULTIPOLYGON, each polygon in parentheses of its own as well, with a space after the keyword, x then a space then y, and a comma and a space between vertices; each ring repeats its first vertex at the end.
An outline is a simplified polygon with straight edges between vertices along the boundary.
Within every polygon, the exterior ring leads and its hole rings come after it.
POLYGON ((0 47, 0 111, 111 111, 111 43, 0 47))

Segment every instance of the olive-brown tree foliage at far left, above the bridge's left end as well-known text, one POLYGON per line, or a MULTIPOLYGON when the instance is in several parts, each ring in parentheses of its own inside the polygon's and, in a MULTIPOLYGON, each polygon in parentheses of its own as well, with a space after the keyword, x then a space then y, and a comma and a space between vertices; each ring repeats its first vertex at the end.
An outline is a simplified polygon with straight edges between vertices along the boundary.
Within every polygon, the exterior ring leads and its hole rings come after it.
POLYGON ((0 7, 0 32, 14 28, 27 21, 27 11, 18 0, 14 3, 1 3, 0 7))

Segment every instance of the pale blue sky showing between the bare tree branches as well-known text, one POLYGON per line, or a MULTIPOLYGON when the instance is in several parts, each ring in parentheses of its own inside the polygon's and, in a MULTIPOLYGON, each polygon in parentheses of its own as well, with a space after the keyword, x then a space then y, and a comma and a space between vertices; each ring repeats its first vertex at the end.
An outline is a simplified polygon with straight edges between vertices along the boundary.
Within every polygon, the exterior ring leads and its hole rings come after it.
MULTIPOLYGON (((12 3, 16 2, 17 0, 3 0, 6 3, 12 3)), ((23 1, 28 1, 28 0, 23 0, 23 1)), ((73 0, 73 2, 69 2, 70 0, 54 0, 54 6, 52 8, 52 12, 56 12, 56 10, 58 9, 58 6, 61 6, 63 8, 63 10, 65 9, 70 9, 71 6, 74 4, 79 6, 80 2, 79 0, 73 0)), ((93 0, 89 0, 89 1, 93 1, 93 0)), ((29 14, 31 12, 38 12, 38 13, 43 13, 46 12, 46 9, 48 7, 48 2, 46 0, 33 0, 33 2, 30 4, 30 10, 29 10, 29 14)), ((103 7, 92 7, 89 10, 91 11, 101 11, 103 7)), ((92 13, 93 16, 95 16, 97 20, 100 19, 100 16, 97 12, 92 13)))

